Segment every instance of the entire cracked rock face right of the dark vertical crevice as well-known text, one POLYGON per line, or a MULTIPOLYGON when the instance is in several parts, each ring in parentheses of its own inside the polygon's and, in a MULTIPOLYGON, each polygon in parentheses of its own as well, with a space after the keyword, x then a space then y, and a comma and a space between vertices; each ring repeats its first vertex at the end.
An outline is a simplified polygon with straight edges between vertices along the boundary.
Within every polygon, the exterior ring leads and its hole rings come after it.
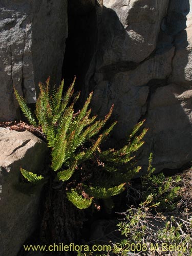
POLYGON ((191 0, 103 0, 96 6, 95 51, 84 77, 93 110, 114 103, 121 143, 146 118, 142 164, 154 153, 157 170, 192 159, 191 0))

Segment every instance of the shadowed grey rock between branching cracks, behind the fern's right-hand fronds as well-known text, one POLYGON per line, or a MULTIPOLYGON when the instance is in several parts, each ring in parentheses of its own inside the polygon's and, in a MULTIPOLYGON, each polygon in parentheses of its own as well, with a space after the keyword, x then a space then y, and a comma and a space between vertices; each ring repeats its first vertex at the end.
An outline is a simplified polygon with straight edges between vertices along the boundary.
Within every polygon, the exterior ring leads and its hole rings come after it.
POLYGON ((108 71, 111 75, 108 79, 102 73, 95 73, 97 87, 92 100, 94 111, 99 116, 104 116, 109 107, 115 104, 113 114, 118 124, 114 129, 114 136, 118 140, 125 138, 146 112, 149 86, 153 87, 157 80, 161 81, 171 74, 174 51, 172 48, 163 54, 156 54, 134 70, 123 72, 119 67, 117 73, 108 71))

